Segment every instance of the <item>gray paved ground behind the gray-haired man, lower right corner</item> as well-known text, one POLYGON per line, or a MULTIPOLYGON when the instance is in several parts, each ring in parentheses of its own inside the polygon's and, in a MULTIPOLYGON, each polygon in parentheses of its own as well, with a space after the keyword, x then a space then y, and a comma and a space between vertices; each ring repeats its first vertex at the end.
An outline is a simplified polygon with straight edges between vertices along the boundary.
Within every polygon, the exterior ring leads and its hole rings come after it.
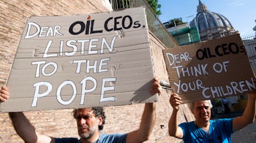
MULTIPOLYGON (((241 116, 242 112, 231 112, 230 114, 220 114, 215 118, 230 118, 241 116)), ((256 120, 256 119, 255 119, 256 120)), ((256 121, 249 124, 242 130, 239 130, 232 135, 232 143, 256 143, 256 121)))

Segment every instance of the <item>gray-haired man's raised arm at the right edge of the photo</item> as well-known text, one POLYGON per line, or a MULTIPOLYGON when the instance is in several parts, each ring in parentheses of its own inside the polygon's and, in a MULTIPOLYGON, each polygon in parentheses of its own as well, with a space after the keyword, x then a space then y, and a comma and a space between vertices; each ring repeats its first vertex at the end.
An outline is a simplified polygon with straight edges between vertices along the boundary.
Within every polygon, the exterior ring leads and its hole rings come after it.
POLYGON ((253 123, 256 114, 256 105, 255 105, 256 93, 248 94, 248 101, 246 108, 244 109, 243 115, 236 117, 233 120, 232 131, 236 132, 241 130, 246 125, 253 123))

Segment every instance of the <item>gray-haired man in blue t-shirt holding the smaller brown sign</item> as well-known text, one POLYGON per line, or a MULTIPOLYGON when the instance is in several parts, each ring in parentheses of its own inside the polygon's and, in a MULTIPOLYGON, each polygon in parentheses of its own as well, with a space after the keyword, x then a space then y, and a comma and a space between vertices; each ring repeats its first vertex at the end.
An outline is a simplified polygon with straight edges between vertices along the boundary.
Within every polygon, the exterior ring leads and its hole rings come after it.
POLYGON ((253 123, 256 114, 256 92, 248 94, 248 102, 243 115, 231 119, 211 120, 211 100, 189 103, 189 109, 195 121, 177 124, 177 112, 182 99, 179 94, 172 93, 170 104, 173 107, 168 123, 169 135, 183 139, 184 142, 232 142, 231 135, 246 125, 253 123))

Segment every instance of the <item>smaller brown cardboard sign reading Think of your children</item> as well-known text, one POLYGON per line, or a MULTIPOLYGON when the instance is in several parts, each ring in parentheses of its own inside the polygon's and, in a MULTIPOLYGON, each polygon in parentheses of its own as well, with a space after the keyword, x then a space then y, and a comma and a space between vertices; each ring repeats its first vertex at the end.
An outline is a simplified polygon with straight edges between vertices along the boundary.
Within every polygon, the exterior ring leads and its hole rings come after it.
POLYGON ((239 34, 163 50, 170 84, 184 103, 255 90, 239 34))

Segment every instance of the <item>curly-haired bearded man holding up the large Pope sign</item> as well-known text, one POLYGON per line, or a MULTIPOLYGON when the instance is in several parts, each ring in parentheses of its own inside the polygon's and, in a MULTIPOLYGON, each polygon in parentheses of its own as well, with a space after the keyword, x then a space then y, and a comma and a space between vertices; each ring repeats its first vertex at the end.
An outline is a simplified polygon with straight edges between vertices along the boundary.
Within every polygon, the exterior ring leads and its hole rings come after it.
MULTIPOLYGON (((154 78, 152 80, 150 93, 161 94, 159 79, 154 78)), ((0 89, 0 102, 7 100, 8 96, 7 87, 2 87, 0 89)), ((76 119, 77 132, 80 139, 55 138, 42 135, 36 132, 34 126, 22 112, 9 113, 13 127, 26 143, 136 143, 149 139, 156 120, 156 105, 155 103, 145 103, 139 129, 125 134, 104 134, 101 132, 106 118, 103 107, 74 109, 73 115, 76 119)))

